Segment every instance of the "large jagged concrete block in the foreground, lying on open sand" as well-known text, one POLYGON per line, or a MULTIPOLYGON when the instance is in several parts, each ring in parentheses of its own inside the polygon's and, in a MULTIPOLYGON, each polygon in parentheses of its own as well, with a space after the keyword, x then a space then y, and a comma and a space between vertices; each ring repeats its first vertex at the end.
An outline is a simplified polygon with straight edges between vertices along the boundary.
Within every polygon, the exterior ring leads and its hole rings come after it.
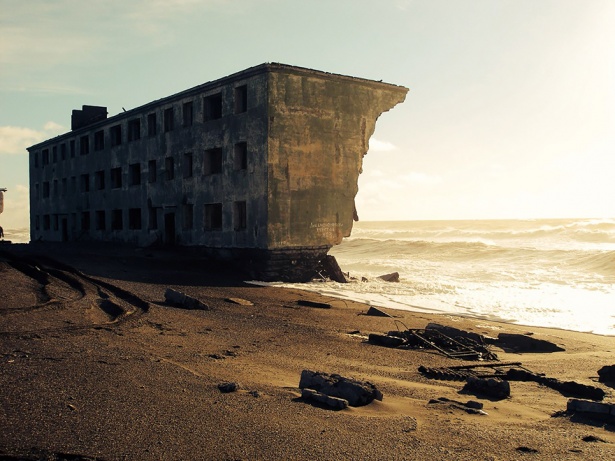
POLYGON ((311 370, 301 372, 299 388, 313 389, 331 397, 347 400, 351 407, 360 407, 374 400, 382 400, 382 392, 370 382, 311 370))

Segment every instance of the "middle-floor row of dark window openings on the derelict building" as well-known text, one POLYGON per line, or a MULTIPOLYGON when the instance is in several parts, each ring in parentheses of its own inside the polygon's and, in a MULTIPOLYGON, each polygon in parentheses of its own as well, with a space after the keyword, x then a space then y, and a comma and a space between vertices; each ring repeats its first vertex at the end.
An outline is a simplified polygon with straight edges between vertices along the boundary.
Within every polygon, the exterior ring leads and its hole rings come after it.
MULTIPOLYGON (((235 170, 245 170, 248 166, 247 144, 241 142, 235 144, 234 149, 234 168, 235 170)), ((166 180, 175 179, 175 159, 166 157, 164 162, 164 177, 166 180)), ((182 162, 183 177, 191 178, 193 172, 193 158, 191 153, 184 154, 182 162)), ((208 149, 205 151, 203 174, 212 175, 222 173, 222 148, 208 149)), ((119 189, 122 187, 122 167, 112 168, 110 170, 111 188, 119 189)), ((148 162, 148 182, 154 183, 157 180, 156 160, 148 162)), ((128 184, 130 186, 138 186, 141 184, 141 164, 133 163, 128 165, 128 184)), ((58 180, 53 181, 54 195, 60 195, 58 180)), ((94 173, 94 188, 96 190, 105 189, 105 171, 97 171, 94 173)), ((36 197, 39 197, 38 184, 35 185, 36 197)), ((71 192, 77 191, 77 178, 71 177, 71 192)), ((90 175, 82 174, 80 177, 80 191, 90 191, 90 175)), ((43 182, 43 198, 48 198, 51 194, 49 181, 43 182)), ((68 195, 68 180, 62 179, 61 195, 68 195)))

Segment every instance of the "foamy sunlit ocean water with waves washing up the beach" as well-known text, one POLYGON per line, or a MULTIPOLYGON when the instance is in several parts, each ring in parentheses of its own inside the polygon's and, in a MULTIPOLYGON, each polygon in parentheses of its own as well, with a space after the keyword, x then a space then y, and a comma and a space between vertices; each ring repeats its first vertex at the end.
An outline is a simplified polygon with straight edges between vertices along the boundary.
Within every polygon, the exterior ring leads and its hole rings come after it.
POLYGON ((615 219, 359 222, 330 254, 350 283, 287 286, 379 307, 615 335, 615 219), (376 278, 390 272, 399 283, 376 278))

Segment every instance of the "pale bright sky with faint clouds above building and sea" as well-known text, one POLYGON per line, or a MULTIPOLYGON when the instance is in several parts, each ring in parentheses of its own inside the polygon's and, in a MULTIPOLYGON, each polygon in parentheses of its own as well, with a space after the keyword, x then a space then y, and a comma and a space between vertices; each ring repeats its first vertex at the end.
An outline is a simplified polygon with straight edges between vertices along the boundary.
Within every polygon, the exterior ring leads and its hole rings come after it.
POLYGON ((361 220, 615 217, 615 1, 0 0, 5 228, 26 147, 264 62, 403 85, 361 220))

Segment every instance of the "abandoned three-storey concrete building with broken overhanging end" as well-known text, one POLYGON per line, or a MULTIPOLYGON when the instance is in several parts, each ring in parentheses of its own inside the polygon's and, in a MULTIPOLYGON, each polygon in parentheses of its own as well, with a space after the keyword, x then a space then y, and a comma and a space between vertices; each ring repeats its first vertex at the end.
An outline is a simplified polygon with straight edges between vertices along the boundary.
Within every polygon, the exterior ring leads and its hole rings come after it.
POLYGON ((407 91, 268 63, 113 117, 83 106, 28 148, 31 240, 198 247, 304 280, 350 235, 376 120, 407 91))

